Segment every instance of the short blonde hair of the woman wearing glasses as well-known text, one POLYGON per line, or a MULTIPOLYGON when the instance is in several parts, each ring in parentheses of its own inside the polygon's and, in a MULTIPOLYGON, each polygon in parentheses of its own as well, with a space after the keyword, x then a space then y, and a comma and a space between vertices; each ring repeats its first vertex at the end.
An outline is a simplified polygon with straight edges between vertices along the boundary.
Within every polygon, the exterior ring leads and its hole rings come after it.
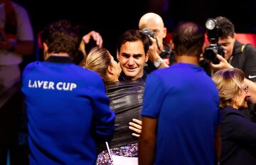
POLYGON ((213 77, 220 96, 220 107, 233 106, 235 97, 242 92, 245 74, 241 69, 221 69, 213 77))

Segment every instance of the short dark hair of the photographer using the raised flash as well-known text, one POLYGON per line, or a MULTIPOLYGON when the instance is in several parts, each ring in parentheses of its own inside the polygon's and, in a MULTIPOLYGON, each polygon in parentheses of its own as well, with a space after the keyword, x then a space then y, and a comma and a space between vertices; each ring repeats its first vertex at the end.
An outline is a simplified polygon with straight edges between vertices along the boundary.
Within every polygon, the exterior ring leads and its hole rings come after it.
POLYGON ((218 24, 218 27, 220 28, 218 32, 218 36, 220 38, 228 38, 229 36, 234 38, 235 35, 235 27, 233 23, 223 16, 218 16, 215 18, 218 24))

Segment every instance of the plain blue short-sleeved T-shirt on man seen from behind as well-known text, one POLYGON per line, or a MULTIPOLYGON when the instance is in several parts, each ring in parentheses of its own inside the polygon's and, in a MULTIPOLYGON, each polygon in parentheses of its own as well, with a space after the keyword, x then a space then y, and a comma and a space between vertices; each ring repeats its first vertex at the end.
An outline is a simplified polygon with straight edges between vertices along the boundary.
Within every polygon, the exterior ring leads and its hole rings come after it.
POLYGON ((215 84, 196 65, 178 63, 149 74, 142 116, 158 120, 156 165, 214 164, 218 100, 215 84))

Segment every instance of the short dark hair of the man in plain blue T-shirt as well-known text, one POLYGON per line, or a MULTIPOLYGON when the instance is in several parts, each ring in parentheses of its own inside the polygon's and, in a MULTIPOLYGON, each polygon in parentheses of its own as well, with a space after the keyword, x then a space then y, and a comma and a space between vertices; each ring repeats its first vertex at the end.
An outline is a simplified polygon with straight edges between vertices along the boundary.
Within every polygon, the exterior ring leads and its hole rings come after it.
POLYGON ((177 56, 200 56, 205 41, 205 31, 193 22, 180 22, 174 30, 174 52, 177 56))

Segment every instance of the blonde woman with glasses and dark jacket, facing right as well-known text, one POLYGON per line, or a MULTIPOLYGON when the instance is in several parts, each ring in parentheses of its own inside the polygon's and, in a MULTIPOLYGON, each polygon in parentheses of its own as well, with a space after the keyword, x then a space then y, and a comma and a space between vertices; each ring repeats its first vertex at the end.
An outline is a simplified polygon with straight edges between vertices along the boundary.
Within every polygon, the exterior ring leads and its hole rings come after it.
POLYGON ((256 123, 241 111, 250 91, 240 69, 222 69, 213 75, 219 90, 222 115, 220 164, 256 164, 256 123))

